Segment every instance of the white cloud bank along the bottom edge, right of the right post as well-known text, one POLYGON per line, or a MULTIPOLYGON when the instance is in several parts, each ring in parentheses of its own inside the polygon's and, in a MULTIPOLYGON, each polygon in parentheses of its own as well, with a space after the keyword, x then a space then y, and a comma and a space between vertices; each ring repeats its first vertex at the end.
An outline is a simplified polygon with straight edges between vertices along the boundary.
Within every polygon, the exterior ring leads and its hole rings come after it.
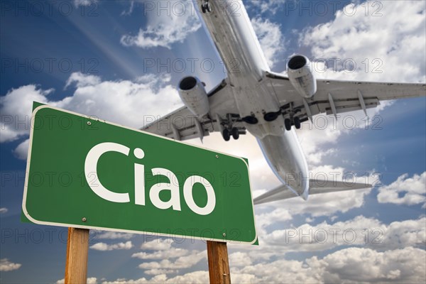
POLYGON ((348 248, 316 256, 305 261, 278 260, 231 269, 231 278, 239 275, 251 283, 424 283, 426 253, 408 247, 378 252, 372 249, 348 248))

